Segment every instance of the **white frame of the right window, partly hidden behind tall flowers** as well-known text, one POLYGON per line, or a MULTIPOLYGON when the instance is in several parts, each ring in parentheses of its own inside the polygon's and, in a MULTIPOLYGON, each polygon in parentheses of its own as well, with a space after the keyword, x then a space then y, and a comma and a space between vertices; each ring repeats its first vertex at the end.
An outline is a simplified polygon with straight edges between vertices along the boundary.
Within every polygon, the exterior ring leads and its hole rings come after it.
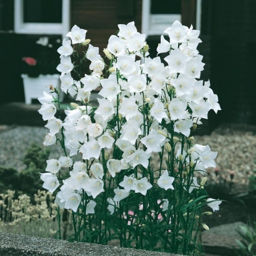
MULTIPOLYGON (((181 14, 150 14, 150 0, 142 1, 142 33, 162 35, 166 28, 171 27, 175 20, 181 22, 181 14)), ((202 0, 197 0, 196 28, 201 28, 202 0)))

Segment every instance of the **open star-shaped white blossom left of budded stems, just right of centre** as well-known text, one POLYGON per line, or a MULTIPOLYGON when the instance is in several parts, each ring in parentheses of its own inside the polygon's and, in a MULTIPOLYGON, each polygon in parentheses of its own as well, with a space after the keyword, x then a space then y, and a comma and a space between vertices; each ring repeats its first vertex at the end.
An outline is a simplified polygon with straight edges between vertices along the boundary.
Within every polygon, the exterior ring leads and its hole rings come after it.
POLYGON ((166 138, 163 135, 160 135, 156 130, 151 129, 149 134, 143 137, 140 142, 147 147, 147 150, 145 151, 146 153, 160 152, 160 144, 164 142, 165 139, 166 138))

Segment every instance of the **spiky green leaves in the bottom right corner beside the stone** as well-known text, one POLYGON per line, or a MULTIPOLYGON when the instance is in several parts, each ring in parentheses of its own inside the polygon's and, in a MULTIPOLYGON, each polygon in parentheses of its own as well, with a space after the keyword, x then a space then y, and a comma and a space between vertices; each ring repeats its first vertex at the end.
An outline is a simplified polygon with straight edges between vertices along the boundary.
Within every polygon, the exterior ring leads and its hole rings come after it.
POLYGON ((247 227, 239 226, 237 233, 241 240, 236 242, 239 245, 239 250, 235 249, 238 256, 254 256, 256 255, 256 222, 248 224, 247 227))

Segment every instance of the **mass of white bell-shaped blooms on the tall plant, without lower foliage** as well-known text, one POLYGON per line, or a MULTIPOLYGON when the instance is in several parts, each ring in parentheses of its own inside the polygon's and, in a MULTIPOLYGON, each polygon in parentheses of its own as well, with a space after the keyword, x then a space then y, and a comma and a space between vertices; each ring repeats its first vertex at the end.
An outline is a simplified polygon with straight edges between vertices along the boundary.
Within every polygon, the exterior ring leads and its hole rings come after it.
MULTIPOLYGON (((174 126, 177 134, 189 138, 193 125, 207 118, 210 109, 220 110, 218 96, 211 90, 210 82, 197 80, 204 66, 197 51, 201 42, 198 30, 176 21, 164 31, 169 40, 161 36, 157 48, 158 54, 169 54, 164 58, 167 64, 164 66, 159 56, 147 57, 145 35, 137 32, 134 22, 118 27, 119 33, 109 38, 104 50, 111 63, 108 69, 111 74, 103 77, 105 62, 99 48, 88 45, 85 58, 91 62, 91 74, 79 81, 71 76, 74 64, 70 56, 72 45, 84 44, 87 30, 74 26, 67 33, 70 40, 63 40, 63 46, 58 49, 61 64, 57 69, 61 72, 61 90, 75 97, 78 104, 65 111, 63 123, 54 117, 53 96, 44 93, 39 98, 42 103, 39 112, 43 120, 48 121, 49 129, 44 145, 55 143, 56 134, 62 129, 64 145, 70 151, 69 156, 48 160, 48 173, 41 174, 43 187, 53 192, 59 187, 56 174, 61 168, 70 168, 70 177, 62 181, 56 197, 62 208, 77 211, 80 203, 86 203, 87 213, 94 213, 96 203, 83 201, 81 195, 86 192, 88 197, 96 198, 105 190, 106 177, 114 178, 121 172, 124 175, 116 184, 115 196, 108 198, 109 209, 128 197, 131 190, 146 195, 153 186, 174 189, 174 177, 168 169, 157 179, 148 179, 145 170, 150 169, 151 154, 161 152, 173 139, 168 125, 174 126), (99 106, 95 109, 88 103, 92 90, 100 86, 98 94, 103 98, 98 98, 99 106), (106 148, 119 149, 119 154, 105 159, 106 148), (82 159, 73 163, 70 156, 77 153, 82 159), (131 170, 132 175, 127 174, 131 170)), ((186 159, 188 164, 194 164, 195 171, 203 173, 205 168, 215 166, 216 155, 208 145, 194 145, 189 150, 180 147, 176 159, 186 159)), ((184 180, 184 187, 186 184, 184 180)), ((195 178, 190 181, 190 187, 189 192, 200 187, 195 178)))

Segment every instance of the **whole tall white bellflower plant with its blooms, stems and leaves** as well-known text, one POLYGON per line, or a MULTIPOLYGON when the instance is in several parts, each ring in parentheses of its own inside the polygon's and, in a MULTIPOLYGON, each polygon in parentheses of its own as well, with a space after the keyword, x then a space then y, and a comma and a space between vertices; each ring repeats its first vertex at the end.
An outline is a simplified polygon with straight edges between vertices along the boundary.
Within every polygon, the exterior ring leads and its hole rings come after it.
POLYGON ((43 187, 59 189, 56 202, 72 214, 73 241, 119 239, 121 246, 195 255, 198 233, 209 229, 202 216, 212 213, 202 208, 220 205, 203 189, 217 152, 193 137, 200 119, 220 110, 210 82, 198 80, 204 66, 199 31, 174 22, 164 31, 169 40, 161 36, 157 48, 168 53, 163 62, 148 57, 134 22, 118 27, 104 50, 108 70, 99 49, 85 40, 87 30, 74 26, 59 48, 61 90, 76 103, 61 120, 58 99, 47 93, 38 99, 48 121, 44 145, 58 142, 64 150, 47 161, 43 187), (91 72, 83 75, 85 61, 91 72), (90 95, 100 86, 93 107, 90 95))

